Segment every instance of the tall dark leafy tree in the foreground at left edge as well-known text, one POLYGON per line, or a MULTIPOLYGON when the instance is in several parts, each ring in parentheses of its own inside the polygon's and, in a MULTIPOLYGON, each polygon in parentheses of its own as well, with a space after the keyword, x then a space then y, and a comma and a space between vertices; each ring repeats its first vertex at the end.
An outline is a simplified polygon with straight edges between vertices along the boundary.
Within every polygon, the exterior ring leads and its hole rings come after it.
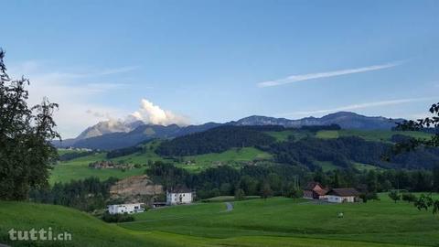
POLYGON ((11 79, 4 57, 0 49, 0 199, 20 200, 48 185, 48 165, 57 157, 50 140, 60 137, 52 119, 58 104, 28 106, 29 81, 11 79))

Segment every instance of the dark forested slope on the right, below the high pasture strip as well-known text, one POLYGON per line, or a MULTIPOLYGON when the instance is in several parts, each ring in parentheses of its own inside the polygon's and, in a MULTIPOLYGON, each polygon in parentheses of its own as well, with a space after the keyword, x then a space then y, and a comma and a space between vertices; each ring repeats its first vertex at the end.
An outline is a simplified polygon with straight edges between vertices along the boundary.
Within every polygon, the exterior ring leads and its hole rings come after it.
MULTIPOLYGON (((404 141, 407 137, 392 137, 404 141)), ((298 141, 274 143, 268 147, 260 147, 274 155, 275 161, 291 165, 305 165, 314 170, 315 161, 329 161, 336 166, 348 168, 352 161, 385 168, 431 169, 439 164, 439 149, 424 147, 414 152, 392 155, 389 160, 383 156, 391 152, 392 145, 380 142, 369 142, 357 136, 337 139, 319 139, 314 137, 298 141)))

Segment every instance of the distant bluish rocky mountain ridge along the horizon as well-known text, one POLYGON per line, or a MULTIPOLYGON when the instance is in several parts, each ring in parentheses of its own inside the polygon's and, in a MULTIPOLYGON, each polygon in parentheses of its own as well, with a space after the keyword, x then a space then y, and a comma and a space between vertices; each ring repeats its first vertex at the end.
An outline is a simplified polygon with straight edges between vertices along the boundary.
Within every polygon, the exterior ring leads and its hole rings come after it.
POLYGON ((154 138, 174 138, 203 132, 220 125, 282 125, 298 128, 310 125, 338 124, 342 129, 390 130, 395 126, 395 123, 402 121, 403 119, 389 119, 381 116, 369 117, 348 112, 331 113, 320 118, 305 117, 298 120, 253 115, 225 124, 207 123, 189 126, 178 126, 177 124, 164 126, 145 124, 140 121, 133 123, 107 121, 87 128, 74 139, 67 139, 62 143, 54 142, 54 145, 112 150, 137 145, 140 142, 154 138))

